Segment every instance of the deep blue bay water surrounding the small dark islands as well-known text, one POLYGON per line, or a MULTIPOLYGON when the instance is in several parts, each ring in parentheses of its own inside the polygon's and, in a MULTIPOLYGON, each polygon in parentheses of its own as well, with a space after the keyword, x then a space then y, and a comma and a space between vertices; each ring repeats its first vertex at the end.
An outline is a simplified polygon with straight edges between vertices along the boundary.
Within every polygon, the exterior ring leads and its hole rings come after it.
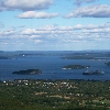
POLYGON ((110 67, 101 61, 90 59, 63 59, 58 55, 37 55, 34 57, 18 57, 16 59, 0 59, 0 80, 13 79, 99 79, 110 80, 110 67), (103 70, 105 75, 82 75, 85 69, 64 70, 67 65, 90 66, 89 70, 103 70), (13 75, 12 72, 23 69, 41 69, 40 75, 13 75))

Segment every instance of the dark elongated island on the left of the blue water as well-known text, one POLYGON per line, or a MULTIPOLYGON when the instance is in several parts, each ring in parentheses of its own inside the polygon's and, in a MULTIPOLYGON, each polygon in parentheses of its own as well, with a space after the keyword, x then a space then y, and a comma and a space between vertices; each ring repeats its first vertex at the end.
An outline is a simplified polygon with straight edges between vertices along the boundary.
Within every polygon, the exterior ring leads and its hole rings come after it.
POLYGON ((26 70, 13 72, 12 74, 35 75, 35 74, 42 74, 42 72, 40 69, 26 69, 26 70))

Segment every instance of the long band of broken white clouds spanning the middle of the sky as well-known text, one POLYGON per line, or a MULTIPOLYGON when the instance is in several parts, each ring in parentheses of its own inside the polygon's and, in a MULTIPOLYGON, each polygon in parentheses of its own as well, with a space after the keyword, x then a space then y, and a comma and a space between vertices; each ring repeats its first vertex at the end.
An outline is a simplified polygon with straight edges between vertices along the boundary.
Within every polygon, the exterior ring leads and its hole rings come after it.
MULTIPOLYGON (((64 37, 61 36, 59 34, 63 34, 67 37, 76 35, 80 36, 81 33, 90 34, 90 33, 110 33, 110 23, 105 23, 101 25, 82 25, 82 24, 77 24, 74 26, 58 26, 58 25, 46 25, 43 28, 38 29, 22 29, 21 31, 18 30, 7 30, 7 31, 0 31, 0 37, 4 36, 10 36, 10 37, 30 37, 30 38, 40 38, 41 36, 58 36, 58 37, 64 37)), ((85 35, 84 35, 85 36, 85 35)), ((105 37, 105 36, 103 36, 105 37)))

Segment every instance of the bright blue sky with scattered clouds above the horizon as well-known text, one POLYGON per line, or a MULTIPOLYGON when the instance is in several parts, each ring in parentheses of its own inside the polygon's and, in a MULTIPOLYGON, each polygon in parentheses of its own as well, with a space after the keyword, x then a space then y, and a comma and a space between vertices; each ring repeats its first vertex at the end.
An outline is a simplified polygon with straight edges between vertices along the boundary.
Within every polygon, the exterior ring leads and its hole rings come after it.
POLYGON ((110 50, 110 0, 0 0, 0 51, 110 50))

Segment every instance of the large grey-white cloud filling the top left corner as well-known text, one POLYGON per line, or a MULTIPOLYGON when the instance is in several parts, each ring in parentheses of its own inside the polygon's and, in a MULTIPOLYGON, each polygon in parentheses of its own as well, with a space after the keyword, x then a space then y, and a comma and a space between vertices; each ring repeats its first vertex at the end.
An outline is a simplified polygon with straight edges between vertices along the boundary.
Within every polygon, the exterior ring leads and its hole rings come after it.
POLYGON ((42 10, 47 9, 53 0, 1 0, 0 10, 42 10))

